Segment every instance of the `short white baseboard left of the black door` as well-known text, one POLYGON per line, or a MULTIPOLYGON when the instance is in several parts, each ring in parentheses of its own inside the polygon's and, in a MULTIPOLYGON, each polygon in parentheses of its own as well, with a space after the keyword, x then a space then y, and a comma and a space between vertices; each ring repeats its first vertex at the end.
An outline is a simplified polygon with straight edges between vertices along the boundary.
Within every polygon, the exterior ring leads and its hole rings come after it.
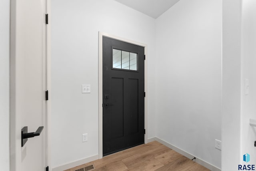
POLYGON ((99 159, 99 155, 94 155, 94 156, 91 156, 91 157, 87 157, 85 159, 81 159, 81 160, 78 160, 78 161, 74 161, 72 163, 68 163, 66 165, 55 167, 55 168, 52 169, 52 171, 64 171, 66 169, 70 169, 72 167, 76 167, 76 166, 79 166, 79 165, 82 165, 82 164, 85 164, 85 163, 89 163, 89 162, 97 160, 97 159, 99 159))

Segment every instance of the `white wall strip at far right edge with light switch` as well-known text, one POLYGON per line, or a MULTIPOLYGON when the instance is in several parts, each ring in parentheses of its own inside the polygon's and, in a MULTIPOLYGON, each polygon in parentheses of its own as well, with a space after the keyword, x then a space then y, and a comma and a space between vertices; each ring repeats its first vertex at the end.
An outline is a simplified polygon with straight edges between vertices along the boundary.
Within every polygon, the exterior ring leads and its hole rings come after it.
POLYGON ((241 120, 241 164, 242 155, 250 154, 250 163, 256 164, 256 128, 249 125, 256 119, 256 1, 243 0, 242 3, 242 120, 241 120), (245 95, 244 80, 249 80, 249 94, 245 95))

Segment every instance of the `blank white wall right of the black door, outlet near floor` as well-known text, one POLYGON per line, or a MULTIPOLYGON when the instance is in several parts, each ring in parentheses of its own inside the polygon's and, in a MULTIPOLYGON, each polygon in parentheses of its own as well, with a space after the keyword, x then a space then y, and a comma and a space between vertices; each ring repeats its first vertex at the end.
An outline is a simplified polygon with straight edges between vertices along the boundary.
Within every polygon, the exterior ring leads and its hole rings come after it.
POLYGON ((221 0, 180 0, 156 19, 156 136, 218 168, 221 0))

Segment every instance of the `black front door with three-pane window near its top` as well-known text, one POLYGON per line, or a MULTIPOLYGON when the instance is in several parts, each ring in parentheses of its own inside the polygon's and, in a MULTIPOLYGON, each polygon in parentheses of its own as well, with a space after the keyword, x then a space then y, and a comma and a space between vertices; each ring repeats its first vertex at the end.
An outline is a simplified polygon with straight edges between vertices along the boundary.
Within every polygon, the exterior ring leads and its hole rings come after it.
POLYGON ((103 37, 103 155, 144 143, 144 47, 103 37))

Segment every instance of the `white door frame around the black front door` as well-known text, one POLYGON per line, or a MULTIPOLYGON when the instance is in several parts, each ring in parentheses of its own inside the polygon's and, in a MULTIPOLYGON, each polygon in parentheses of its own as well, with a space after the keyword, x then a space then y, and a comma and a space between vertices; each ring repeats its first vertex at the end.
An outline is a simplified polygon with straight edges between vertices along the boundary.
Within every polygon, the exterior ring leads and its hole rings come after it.
POLYGON ((144 47, 144 53, 146 55, 146 60, 144 61, 144 66, 145 66, 145 72, 144 72, 144 89, 146 92, 146 97, 145 97, 145 103, 144 103, 144 129, 146 129, 146 133, 144 136, 144 142, 147 143, 148 141, 148 110, 147 110, 147 92, 148 92, 148 86, 147 86, 147 56, 148 56, 148 46, 146 44, 140 43, 140 42, 135 42, 133 40, 129 40, 126 38, 121 38, 118 36, 114 36, 108 33, 104 33, 104 32, 99 32, 99 68, 98 68, 98 83, 99 83, 99 159, 102 159, 103 157, 103 109, 102 109, 102 104, 103 104, 103 87, 102 87, 102 37, 108 37, 108 38, 112 38, 112 39, 116 39, 116 40, 120 40, 123 42, 127 42, 130 44, 135 44, 138 46, 142 46, 144 47))

